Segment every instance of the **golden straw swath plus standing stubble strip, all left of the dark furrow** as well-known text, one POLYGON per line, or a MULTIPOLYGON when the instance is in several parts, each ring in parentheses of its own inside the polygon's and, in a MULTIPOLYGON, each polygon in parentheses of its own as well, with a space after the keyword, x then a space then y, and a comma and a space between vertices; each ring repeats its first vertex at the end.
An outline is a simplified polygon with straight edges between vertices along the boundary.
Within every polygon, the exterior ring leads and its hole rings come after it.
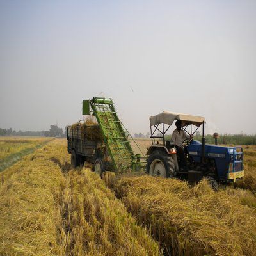
POLYGON ((0 174, 0 255, 161 255, 95 173, 66 172, 65 144, 54 140, 0 174))

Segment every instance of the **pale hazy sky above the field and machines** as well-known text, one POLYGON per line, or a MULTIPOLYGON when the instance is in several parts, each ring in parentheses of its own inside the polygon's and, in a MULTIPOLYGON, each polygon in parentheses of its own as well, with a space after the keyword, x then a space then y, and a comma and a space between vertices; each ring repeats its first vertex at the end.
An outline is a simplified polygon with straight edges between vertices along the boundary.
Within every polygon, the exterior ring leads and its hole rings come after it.
POLYGON ((0 1, 0 127, 62 128, 115 102, 134 134, 163 110, 256 133, 256 1, 0 1))

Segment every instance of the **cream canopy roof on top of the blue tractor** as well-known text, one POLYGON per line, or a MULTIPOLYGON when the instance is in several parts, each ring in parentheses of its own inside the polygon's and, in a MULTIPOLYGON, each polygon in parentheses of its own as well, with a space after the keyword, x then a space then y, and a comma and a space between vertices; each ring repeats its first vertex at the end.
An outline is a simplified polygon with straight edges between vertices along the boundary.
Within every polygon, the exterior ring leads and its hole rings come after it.
POLYGON ((172 125, 174 120, 182 120, 182 126, 186 126, 189 124, 200 126, 203 121, 205 122, 205 118, 202 116, 192 116, 169 111, 163 111, 156 116, 150 116, 149 120, 150 125, 157 125, 162 123, 172 125))

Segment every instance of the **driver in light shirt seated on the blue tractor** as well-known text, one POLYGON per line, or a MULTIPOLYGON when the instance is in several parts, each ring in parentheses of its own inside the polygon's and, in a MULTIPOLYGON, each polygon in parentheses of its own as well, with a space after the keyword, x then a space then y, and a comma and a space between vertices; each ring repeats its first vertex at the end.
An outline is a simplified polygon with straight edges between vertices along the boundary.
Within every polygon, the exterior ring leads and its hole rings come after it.
POLYGON ((186 171, 187 169, 187 162, 186 162, 186 157, 185 157, 185 152, 184 152, 184 147, 182 146, 182 142, 189 138, 189 136, 186 134, 185 131, 181 129, 182 127, 182 122, 181 120, 177 120, 175 122, 176 129, 172 133, 172 140, 174 141, 174 144, 176 146, 177 154, 180 159, 180 170, 186 171))

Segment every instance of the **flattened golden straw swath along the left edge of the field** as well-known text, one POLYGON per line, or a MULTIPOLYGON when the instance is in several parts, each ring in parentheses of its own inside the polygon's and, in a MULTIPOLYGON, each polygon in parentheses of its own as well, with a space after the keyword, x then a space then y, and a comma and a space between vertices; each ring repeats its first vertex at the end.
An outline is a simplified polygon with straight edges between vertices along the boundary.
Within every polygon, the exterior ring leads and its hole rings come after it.
POLYGON ((0 255, 56 255, 56 211, 65 179, 45 146, 1 173, 0 255), (33 157, 33 159, 32 159, 33 157))

